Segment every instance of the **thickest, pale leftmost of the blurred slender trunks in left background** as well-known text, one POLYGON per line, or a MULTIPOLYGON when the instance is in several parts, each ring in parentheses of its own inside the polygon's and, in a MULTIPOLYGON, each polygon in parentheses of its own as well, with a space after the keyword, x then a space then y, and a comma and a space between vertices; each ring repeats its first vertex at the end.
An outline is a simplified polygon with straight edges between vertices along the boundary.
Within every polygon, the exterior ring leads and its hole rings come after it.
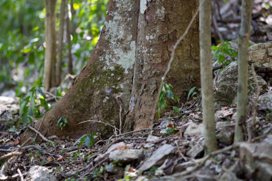
POLYGON ((56 58, 56 30, 55 30, 55 6, 56 0, 46 0, 45 10, 45 61, 43 84, 45 90, 49 91, 55 84, 55 58, 56 58))

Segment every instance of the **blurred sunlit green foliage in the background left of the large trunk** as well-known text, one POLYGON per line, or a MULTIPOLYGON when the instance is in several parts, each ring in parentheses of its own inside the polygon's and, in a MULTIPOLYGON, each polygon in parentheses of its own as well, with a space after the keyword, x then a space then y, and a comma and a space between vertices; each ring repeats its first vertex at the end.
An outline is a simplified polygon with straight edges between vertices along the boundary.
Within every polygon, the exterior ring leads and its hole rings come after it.
MULTIPOLYGON (((57 1, 56 14, 59 14, 57 1)), ((70 3, 70 1, 69 1, 70 3)), ((72 9, 71 34, 74 72, 79 73, 99 39, 106 17, 108 0, 75 0, 72 9)), ((16 87, 16 96, 24 97, 32 86, 41 86, 45 54, 44 1, 0 1, 0 93, 16 87), (35 77, 35 78, 33 78, 35 77)), ((59 20, 56 21, 56 30, 59 20)), ((68 48, 68 47, 64 47, 68 48)), ((63 50, 63 71, 67 54, 63 50)), ((57 95, 59 96, 59 95, 57 95)))

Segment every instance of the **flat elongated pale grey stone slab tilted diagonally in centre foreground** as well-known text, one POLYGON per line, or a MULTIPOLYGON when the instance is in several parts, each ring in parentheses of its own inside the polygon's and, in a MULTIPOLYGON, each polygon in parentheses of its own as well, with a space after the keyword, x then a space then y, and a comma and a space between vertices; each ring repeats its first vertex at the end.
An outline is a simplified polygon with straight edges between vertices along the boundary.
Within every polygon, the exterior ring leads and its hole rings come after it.
POLYGON ((152 155, 144 161, 144 163, 140 166, 140 170, 148 170, 152 166, 160 166, 164 162, 164 157, 169 155, 170 153, 174 153, 177 147, 172 146, 170 144, 164 144, 161 147, 157 148, 152 155))

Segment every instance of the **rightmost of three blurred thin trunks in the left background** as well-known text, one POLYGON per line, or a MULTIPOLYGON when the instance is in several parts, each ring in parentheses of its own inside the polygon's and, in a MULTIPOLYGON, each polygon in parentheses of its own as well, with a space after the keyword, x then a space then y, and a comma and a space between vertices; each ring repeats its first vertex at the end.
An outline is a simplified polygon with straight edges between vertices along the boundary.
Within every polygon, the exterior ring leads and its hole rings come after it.
POLYGON ((73 74, 73 59, 72 59, 72 53, 71 53, 71 48, 72 48, 72 45, 71 45, 71 34, 70 34, 70 19, 69 19, 69 9, 68 9, 68 6, 67 4, 65 5, 66 8, 66 15, 65 15, 65 22, 66 22, 66 43, 68 45, 68 48, 67 48, 67 59, 68 59, 68 72, 70 74, 73 74))

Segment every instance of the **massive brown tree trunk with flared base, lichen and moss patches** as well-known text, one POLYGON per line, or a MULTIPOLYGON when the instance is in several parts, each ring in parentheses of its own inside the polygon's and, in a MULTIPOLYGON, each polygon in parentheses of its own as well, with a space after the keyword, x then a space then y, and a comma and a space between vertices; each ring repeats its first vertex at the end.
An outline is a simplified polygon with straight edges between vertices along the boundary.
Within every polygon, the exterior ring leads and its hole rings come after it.
MULTIPOLYGON (((194 1, 109 1, 104 28, 86 66, 67 94, 42 122, 46 136, 77 137, 99 132, 106 137, 112 128, 86 120, 110 123, 125 131, 149 127, 152 108, 166 69, 172 45, 184 32, 197 9, 194 1), (121 117, 119 117, 120 109, 121 117), (68 125, 57 127, 60 117, 68 125), (134 124, 135 123, 135 124, 134 124)), ((198 21, 176 50, 166 81, 185 101, 199 80, 198 21)), ((35 127, 38 128, 39 122, 35 127)))

